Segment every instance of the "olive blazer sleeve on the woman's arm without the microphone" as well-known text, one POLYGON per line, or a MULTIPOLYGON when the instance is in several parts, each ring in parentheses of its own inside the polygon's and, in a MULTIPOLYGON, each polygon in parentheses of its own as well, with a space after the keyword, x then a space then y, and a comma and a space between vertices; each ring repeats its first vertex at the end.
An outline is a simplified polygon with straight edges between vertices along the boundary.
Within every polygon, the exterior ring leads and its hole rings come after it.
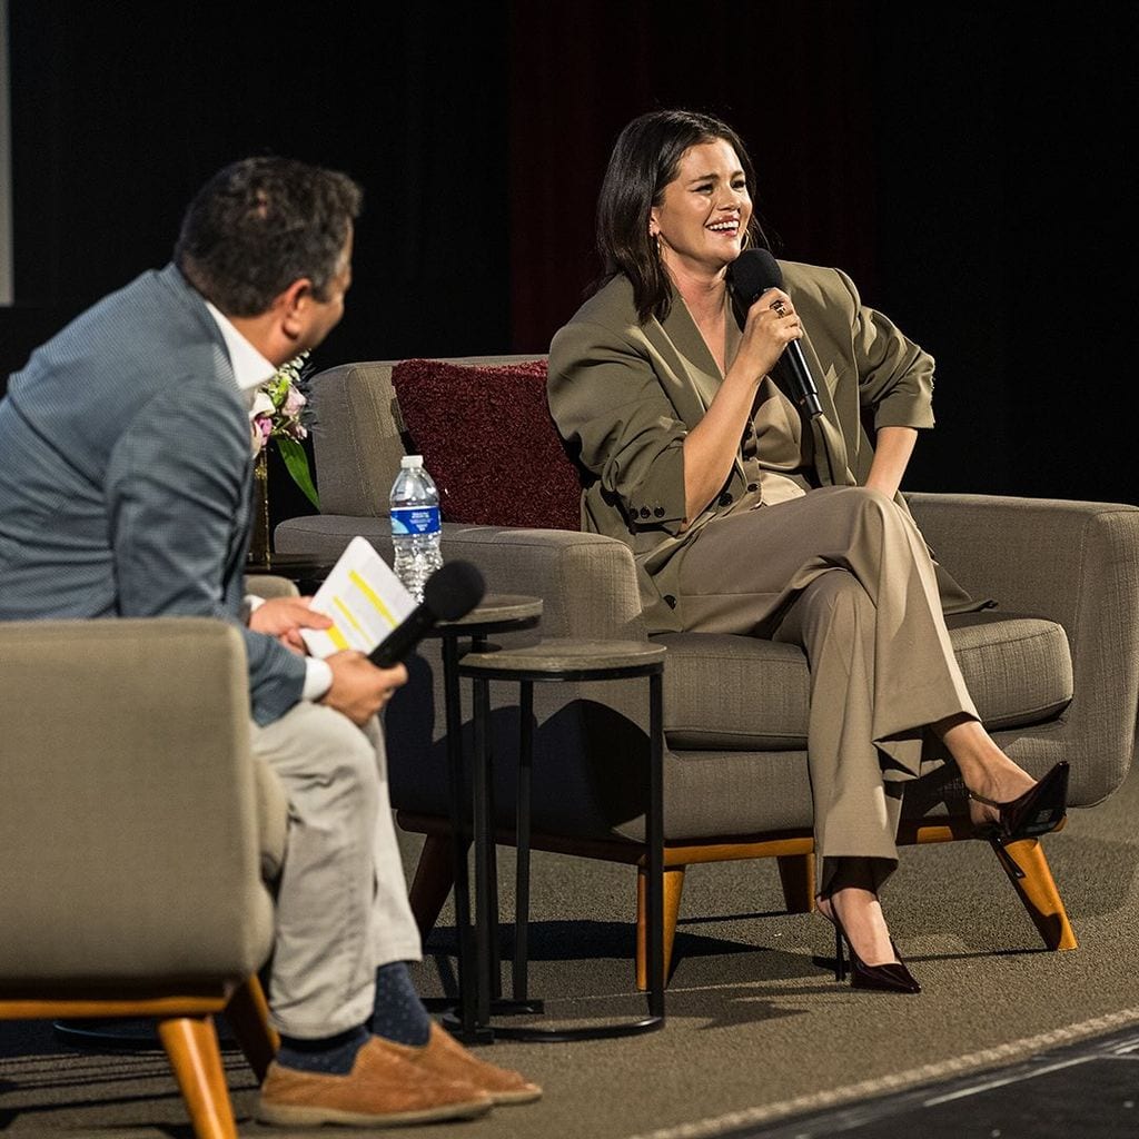
POLYGON ((851 334, 859 401, 872 410, 875 429, 933 427, 933 357, 880 312, 863 305, 854 282, 836 272, 854 304, 851 334))

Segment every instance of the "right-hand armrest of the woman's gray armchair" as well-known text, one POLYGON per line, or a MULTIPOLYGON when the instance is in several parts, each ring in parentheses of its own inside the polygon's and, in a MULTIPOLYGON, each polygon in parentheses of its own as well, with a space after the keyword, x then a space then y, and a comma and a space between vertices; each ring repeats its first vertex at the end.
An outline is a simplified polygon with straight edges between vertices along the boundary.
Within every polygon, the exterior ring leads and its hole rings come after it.
MULTIPOLYGON (((1139 711, 1139 507, 984 494, 907 500, 937 560, 970 593, 1064 626, 1075 695, 1055 759, 1073 763, 1073 802, 1111 794, 1130 765, 1139 711)), ((1002 743, 1015 757, 1015 740, 1002 743)))

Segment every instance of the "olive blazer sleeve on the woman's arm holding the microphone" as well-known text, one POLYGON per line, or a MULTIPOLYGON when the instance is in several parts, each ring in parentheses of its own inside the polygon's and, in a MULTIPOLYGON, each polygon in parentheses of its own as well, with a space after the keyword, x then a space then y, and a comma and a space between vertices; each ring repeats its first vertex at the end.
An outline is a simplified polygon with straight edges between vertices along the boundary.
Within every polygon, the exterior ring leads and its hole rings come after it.
POLYGON ((563 439, 630 530, 679 533, 687 427, 647 350, 600 325, 570 323, 550 345, 547 391, 563 439))

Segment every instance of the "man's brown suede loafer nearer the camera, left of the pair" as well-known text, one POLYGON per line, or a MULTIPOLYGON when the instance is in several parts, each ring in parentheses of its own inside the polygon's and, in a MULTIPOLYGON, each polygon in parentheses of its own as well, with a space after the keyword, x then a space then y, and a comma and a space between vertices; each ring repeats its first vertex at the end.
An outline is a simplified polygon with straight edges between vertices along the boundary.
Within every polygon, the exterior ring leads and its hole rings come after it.
POLYGON ((435 1075, 412 1064, 395 1047, 372 1036, 357 1054, 347 1075, 326 1075, 269 1066, 254 1115, 281 1126, 393 1128, 435 1120, 469 1120, 493 1100, 469 1083, 435 1075))

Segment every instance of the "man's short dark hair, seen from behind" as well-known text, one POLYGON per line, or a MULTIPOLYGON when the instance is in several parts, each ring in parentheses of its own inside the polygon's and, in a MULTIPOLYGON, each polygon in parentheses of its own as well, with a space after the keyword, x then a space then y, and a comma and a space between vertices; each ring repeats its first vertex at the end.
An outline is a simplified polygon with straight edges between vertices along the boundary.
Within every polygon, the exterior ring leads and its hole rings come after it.
POLYGON ((327 300, 362 197, 347 174, 290 158, 244 158, 198 190, 174 263, 230 317, 260 316, 303 277, 318 301, 327 300))

